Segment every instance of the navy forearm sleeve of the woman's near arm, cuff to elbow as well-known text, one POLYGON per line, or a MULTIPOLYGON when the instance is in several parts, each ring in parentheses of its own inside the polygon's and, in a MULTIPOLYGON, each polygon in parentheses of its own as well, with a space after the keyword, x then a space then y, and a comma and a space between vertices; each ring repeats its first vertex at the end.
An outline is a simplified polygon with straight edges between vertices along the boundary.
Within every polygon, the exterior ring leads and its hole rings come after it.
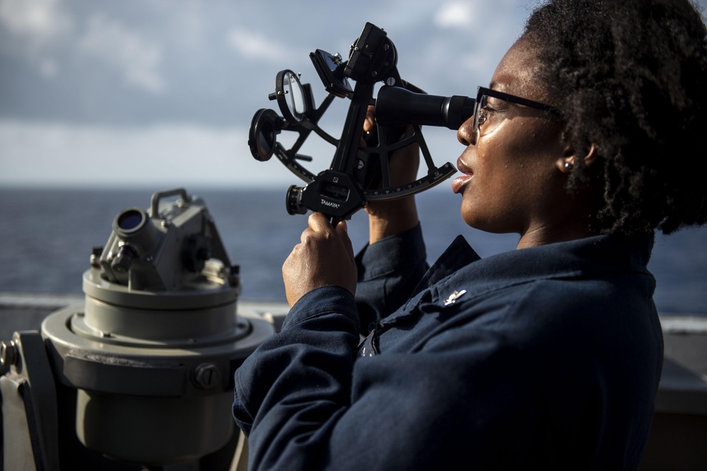
POLYGON ((249 439, 249 470, 315 469, 350 404, 358 330, 349 291, 315 289, 236 370, 233 417, 249 439))

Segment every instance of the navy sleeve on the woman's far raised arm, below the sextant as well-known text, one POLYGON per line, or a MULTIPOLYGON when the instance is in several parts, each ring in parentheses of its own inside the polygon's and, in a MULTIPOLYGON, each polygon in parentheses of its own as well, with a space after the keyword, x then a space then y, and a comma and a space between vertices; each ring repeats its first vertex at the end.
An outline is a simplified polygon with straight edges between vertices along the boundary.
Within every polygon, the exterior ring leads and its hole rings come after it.
POLYGON ((409 299, 429 268, 421 226, 367 245, 356 256, 356 265, 356 306, 361 333, 367 335, 370 325, 409 299))

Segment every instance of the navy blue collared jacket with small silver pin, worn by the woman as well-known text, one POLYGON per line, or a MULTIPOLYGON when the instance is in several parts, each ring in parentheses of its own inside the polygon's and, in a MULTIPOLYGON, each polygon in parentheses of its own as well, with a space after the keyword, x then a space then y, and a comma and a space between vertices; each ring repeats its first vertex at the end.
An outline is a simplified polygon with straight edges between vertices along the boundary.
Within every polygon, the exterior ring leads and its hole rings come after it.
POLYGON ((428 271, 419 228, 368 246, 356 299, 306 294, 236 371, 252 469, 635 468, 662 365, 652 246, 479 259, 460 237, 428 271))

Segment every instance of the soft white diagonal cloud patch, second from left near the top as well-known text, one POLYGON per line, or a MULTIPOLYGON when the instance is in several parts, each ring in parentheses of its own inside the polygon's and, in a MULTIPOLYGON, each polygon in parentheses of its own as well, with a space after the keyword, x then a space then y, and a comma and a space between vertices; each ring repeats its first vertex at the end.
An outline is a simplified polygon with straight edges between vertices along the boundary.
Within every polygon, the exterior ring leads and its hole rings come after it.
POLYGON ((163 93, 167 81, 160 74, 162 48, 140 33, 101 14, 91 16, 78 50, 118 71, 128 86, 163 93))

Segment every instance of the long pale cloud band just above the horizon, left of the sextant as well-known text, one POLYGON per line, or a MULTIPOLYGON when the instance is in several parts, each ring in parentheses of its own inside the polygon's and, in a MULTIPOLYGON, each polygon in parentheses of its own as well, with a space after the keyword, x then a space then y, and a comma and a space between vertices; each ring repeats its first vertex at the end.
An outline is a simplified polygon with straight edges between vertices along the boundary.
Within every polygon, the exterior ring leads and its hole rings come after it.
POLYGON ((247 129, 0 120, 0 185, 135 187, 279 185, 298 180, 275 158, 255 161, 247 129), (41 169, 41 171, 37 171, 41 169))

